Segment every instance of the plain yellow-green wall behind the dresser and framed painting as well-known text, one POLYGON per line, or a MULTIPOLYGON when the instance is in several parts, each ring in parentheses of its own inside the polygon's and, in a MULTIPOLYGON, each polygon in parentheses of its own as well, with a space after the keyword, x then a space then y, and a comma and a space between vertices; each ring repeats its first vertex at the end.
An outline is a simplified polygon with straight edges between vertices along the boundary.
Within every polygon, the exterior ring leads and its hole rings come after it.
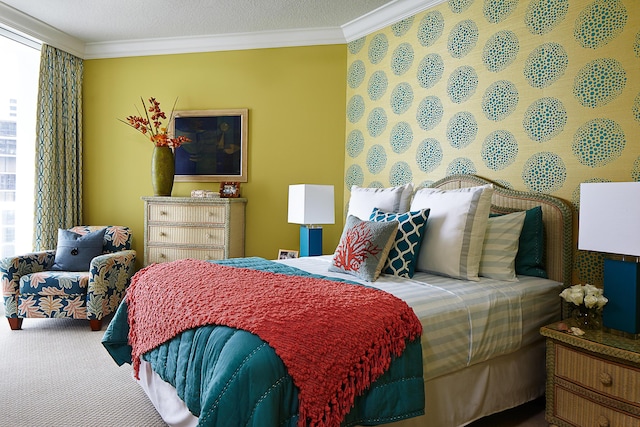
MULTIPOLYGON (((131 227, 142 259, 152 145, 117 119, 136 114, 141 96, 165 111, 177 97, 176 110, 249 109, 246 255, 298 249, 287 191, 299 183, 335 185, 338 223, 324 227, 323 247, 332 253, 343 225, 346 56, 334 45, 85 61, 84 222, 131 227)), ((175 183, 173 196, 218 188, 175 183)))

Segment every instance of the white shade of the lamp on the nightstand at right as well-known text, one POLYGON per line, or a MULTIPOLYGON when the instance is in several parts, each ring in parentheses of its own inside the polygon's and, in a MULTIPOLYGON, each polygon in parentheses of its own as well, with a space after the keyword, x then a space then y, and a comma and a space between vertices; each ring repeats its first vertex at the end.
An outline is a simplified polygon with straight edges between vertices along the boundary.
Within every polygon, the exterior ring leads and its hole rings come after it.
POLYGON ((580 184, 578 249, 640 256, 640 182, 580 184))

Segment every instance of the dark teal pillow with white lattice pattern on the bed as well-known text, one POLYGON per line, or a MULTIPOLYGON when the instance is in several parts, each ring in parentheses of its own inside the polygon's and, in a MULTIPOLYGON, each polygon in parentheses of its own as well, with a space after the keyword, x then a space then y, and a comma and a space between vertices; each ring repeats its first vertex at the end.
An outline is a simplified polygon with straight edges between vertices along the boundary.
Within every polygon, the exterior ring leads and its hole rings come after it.
POLYGON ((373 210, 369 218, 370 221, 398 222, 398 232, 389 251, 383 273, 407 278, 413 277, 427 218, 429 218, 429 209, 405 213, 383 212, 378 208, 373 210))

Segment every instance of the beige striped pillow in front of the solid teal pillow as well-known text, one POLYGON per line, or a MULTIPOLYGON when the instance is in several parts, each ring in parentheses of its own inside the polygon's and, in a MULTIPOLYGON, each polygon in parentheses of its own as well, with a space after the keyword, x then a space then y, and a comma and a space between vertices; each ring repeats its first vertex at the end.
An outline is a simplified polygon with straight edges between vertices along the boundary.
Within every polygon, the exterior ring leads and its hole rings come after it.
POLYGON ((526 212, 489 218, 484 235, 479 275, 490 279, 517 281, 516 255, 526 212))

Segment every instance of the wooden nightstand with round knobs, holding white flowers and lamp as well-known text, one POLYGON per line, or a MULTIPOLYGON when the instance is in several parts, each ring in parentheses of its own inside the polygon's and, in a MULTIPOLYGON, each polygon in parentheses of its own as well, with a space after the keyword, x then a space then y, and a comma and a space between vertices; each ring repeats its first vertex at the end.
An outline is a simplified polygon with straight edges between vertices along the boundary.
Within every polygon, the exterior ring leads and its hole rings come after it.
POLYGON ((576 336, 558 323, 540 333, 547 337, 547 422, 640 426, 640 341, 602 330, 576 336))

